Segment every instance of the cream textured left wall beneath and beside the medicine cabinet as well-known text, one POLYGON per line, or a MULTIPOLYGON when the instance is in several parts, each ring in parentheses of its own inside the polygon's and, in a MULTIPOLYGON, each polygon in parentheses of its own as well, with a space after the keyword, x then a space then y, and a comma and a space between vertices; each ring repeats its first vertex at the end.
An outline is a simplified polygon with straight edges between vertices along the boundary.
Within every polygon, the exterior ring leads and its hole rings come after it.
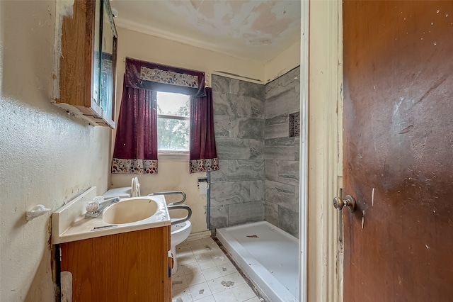
POLYGON ((51 104, 55 1, 0 1, 0 301, 55 301, 50 214, 108 186, 110 133, 51 104))

